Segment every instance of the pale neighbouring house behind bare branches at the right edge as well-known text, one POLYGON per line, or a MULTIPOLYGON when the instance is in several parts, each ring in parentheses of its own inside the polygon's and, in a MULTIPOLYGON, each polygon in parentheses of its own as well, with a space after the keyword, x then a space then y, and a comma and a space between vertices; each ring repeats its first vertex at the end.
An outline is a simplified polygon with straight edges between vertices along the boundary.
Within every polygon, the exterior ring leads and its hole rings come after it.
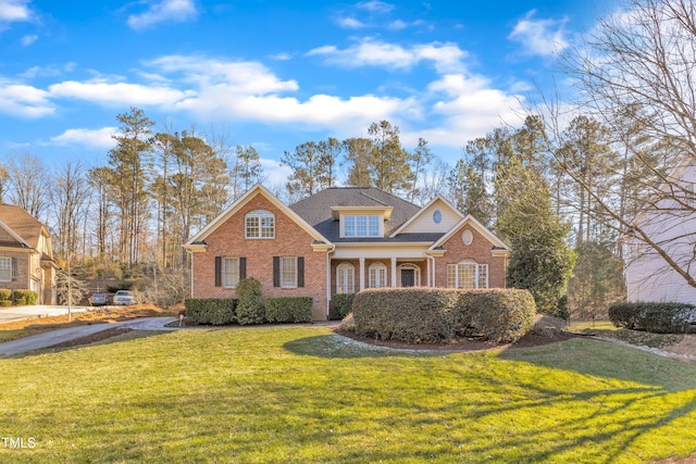
MULTIPOLYGON (((696 161, 685 156, 668 178, 671 185, 660 187, 633 224, 659 244, 670 260, 696 277, 696 161)), ((639 235, 624 237, 624 256, 629 301, 696 304, 696 288, 639 235)))

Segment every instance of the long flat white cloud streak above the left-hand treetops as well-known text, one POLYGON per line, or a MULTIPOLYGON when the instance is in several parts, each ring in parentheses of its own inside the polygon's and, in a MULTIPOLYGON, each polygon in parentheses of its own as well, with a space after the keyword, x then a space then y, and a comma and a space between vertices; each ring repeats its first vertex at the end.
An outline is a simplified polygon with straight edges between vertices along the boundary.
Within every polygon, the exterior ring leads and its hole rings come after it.
POLYGON ((139 84, 66 80, 49 86, 52 97, 76 98, 102 104, 173 105, 191 97, 192 90, 139 84))

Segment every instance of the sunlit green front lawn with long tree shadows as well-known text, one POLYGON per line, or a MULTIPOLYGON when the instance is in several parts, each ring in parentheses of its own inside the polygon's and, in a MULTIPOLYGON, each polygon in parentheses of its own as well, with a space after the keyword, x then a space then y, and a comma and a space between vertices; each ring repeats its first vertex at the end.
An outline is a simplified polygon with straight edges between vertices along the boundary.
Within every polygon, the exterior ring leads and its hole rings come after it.
POLYGON ((643 463, 696 450, 696 366, 575 339, 395 352, 324 327, 0 359, 0 462, 643 463), (9 444, 9 443, 8 443, 9 444))

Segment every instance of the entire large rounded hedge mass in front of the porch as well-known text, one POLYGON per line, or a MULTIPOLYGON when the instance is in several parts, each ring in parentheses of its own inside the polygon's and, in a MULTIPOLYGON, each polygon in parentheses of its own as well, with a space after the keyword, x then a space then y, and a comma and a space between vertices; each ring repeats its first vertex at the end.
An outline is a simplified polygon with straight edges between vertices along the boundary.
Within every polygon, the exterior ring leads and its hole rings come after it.
POLYGON ((409 343, 461 336, 511 342, 527 333, 535 313, 532 294, 517 289, 369 289, 352 303, 358 335, 409 343))

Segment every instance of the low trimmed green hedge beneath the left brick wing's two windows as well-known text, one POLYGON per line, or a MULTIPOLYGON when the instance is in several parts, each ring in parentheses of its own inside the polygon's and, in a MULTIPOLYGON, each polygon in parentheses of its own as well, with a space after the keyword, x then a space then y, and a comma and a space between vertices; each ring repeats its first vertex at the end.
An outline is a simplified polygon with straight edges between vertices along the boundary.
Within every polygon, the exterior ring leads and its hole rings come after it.
MULTIPOLYGON (((239 300, 233 298, 188 298, 185 315, 192 325, 248 325, 271 323, 304 323, 312 321, 311 297, 269 298, 265 306, 254 308, 239 316, 239 300), (260 313, 258 313, 260 311, 260 313)), ((248 306, 250 308, 250 306, 248 306)))

